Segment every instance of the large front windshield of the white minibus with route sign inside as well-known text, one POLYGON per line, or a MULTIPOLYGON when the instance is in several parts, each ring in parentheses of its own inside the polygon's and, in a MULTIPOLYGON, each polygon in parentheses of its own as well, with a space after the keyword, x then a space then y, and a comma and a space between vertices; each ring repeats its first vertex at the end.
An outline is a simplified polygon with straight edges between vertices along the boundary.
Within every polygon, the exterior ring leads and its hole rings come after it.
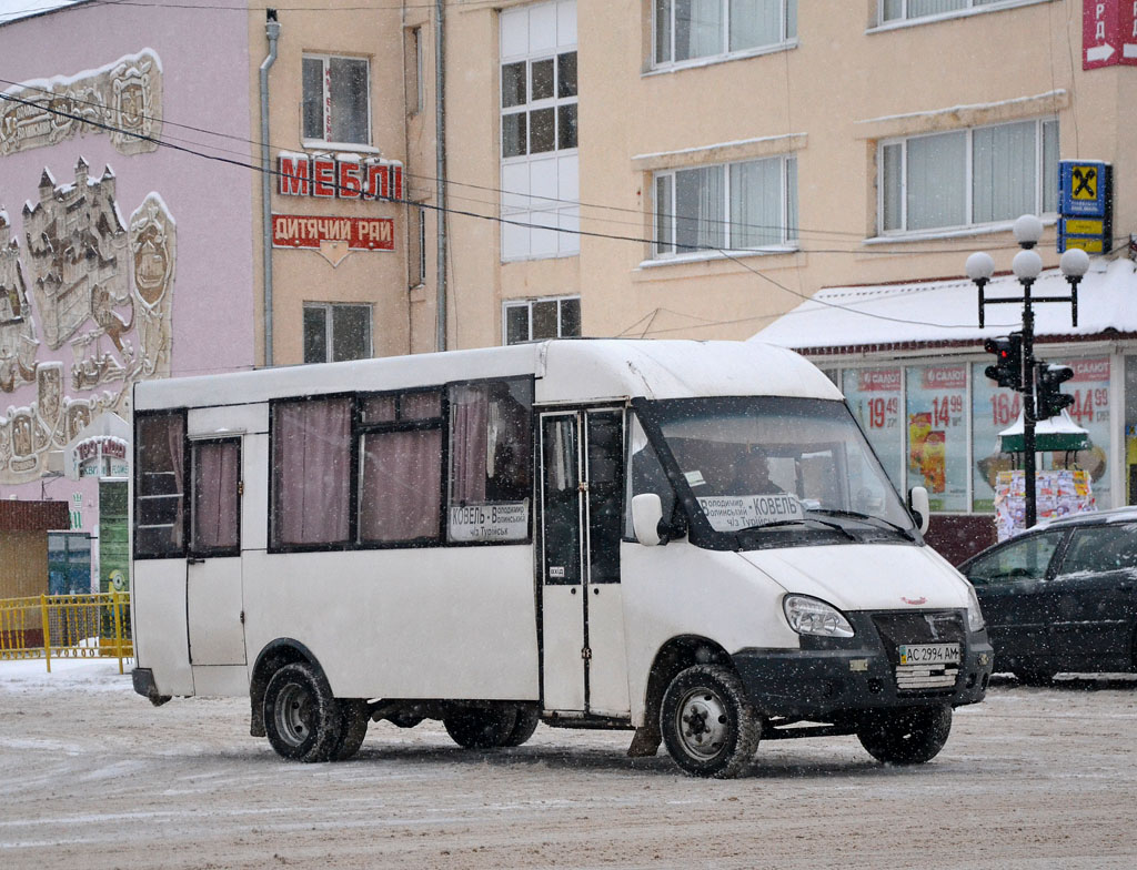
POLYGON ((684 399, 652 402, 650 416, 716 533, 915 539, 912 518, 844 402, 684 399))

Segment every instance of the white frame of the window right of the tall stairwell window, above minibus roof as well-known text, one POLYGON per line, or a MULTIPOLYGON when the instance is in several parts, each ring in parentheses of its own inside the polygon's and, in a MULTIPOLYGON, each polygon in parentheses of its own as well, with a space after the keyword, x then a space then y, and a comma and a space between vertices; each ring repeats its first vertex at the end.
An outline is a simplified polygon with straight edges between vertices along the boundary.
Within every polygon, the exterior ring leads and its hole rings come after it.
POLYGON ((665 169, 654 173, 652 176, 652 259, 655 260, 683 260, 683 259, 705 259, 707 257, 714 257, 720 251, 729 251, 731 253, 741 254, 764 254, 764 253, 785 253, 787 251, 798 250, 798 226, 797 226, 797 215, 798 215, 798 182, 797 182, 797 156, 796 154, 777 154, 773 157, 761 157, 754 158, 753 160, 732 160, 728 164, 711 164, 704 166, 694 167, 678 167, 675 169, 665 169), (730 167, 741 166, 752 162, 763 162, 766 160, 778 160, 780 166, 779 177, 781 179, 781 185, 779 187, 779 211, 780 211, 780 223, 781 223, 781 239, 778 242, 773 242, 767 245, 762 245, 760 248, 736 248, 732 244, 731 239, 731 220, 730 220, 730 167), (680 251, 680 246, 677 240, 678 223, 680 215, 674 208, 675 203, 675 175, 678 173, 686 172, 688 169, 709 169, 720 168, 723 174, 722 190, 723 190, 723 246, 721 249, 700 249, 695 251, 680 251), (792 179, 792 184, 790 183, 792 179), (657 192, 659 190, 658 185, 661 181, 670 181, 670 199, 671 199, 671 211, 670 214, 661 215, 659 206, 657 200, 657 192), (792 187, 792 190, 790 190, 792 187), (792 195, 791 195, 792 194, 792 195), (792 201, 791 201, 792 200, 792 201), (666 223, 661 221, 663 218, 666 223), (671 241, 666 244, 670 250, 664 250, 664 245, 661 245, 659 240, 666 237, 671 241))

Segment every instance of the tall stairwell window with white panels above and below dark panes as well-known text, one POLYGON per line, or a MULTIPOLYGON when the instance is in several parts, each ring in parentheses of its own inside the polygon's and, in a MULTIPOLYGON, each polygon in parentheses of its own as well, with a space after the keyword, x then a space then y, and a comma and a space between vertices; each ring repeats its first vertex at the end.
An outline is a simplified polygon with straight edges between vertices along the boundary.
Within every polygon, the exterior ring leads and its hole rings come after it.
POLYGON ((572 256, 580 252, 576 2, 507 9, 500 28, 501 258, 572 256))

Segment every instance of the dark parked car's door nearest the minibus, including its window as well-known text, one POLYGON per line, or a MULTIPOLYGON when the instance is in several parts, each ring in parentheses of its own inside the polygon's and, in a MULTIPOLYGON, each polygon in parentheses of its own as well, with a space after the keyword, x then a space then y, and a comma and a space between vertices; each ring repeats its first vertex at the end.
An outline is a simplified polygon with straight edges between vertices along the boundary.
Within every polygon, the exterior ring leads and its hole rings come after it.
POLYGON ((1046 667, 1054 617, 1048 577, 1065 534, 1056 529, 1023 535, 965 566, 987 620, 996 669, 1046 667))

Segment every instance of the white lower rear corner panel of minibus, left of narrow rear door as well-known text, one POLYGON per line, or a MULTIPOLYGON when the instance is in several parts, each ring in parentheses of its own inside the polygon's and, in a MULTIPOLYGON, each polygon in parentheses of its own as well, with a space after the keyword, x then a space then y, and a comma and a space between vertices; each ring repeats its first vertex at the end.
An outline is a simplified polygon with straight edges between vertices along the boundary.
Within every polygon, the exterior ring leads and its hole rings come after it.
POLYGON ((185 560, 141 559, 131 578, 138 667, 150 668, 163 695, 192 695, 185 621, 185 560))

